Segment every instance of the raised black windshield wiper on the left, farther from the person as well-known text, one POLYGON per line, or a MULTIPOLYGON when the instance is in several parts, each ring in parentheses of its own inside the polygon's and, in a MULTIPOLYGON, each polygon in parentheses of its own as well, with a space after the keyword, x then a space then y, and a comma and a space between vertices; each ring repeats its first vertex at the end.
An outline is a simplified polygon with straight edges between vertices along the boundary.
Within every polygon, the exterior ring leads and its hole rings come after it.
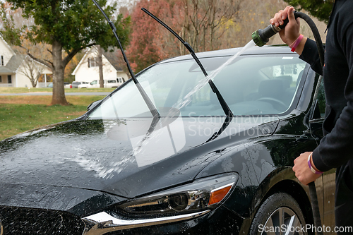
POLYGON ((114 34, 114 37, 116 38, 116 40, 118 41, 119 43, 119 47, 120 47, 120 50, 121 50, 121 54, 123 54, 123 57, 124 57, 124 61, 126 63, 126 66, 128 67, 128 72, 130 73, 131 75, 131 78, 133 80, 133 83, 135 83, 138 91, 140 92, 140 94, 142 95, 143 97, 143 100, 145 101, 145 103, 147 104, 148 106, 148 109, 150 109, 150 112, 153 116, 153 120, 152 123, 156 123, 157 119, 160 119, 160 114, 158 113, 157 111, 157 108, 155 107, 155 105, 152 103, 152 101, 150 100, 150 97, 148 97, 147 93, 145 92, 145 90, 143 90, 143 87, 140 85, 140 83, 138 82, 138 80, 136 79, 136 76, 135 74, 133 73, 132 69, 131 69, 131 66, 130 64, 128 63, 128 59, 126 58, 126 54, 124 52, 124 49, 123 47, 121 46, 121 42, 119 40, 119 37, 118 35, 116 35, 116 27, 114 25, 114 23, 112 22, 112 20, 110 20, 107 16, 107 14, 103 11, 103 9, 100 7, 100 5, 97 3, 97 1, 95 0, 92 0, 93 3, 95 4, 95 6, 97 6, 98 9, 100 9, 100 12, 102 12, 104 18, 108 21, 109 23, 109 26, 110 28, 112 28, 113 30, 113 34, 114 34))

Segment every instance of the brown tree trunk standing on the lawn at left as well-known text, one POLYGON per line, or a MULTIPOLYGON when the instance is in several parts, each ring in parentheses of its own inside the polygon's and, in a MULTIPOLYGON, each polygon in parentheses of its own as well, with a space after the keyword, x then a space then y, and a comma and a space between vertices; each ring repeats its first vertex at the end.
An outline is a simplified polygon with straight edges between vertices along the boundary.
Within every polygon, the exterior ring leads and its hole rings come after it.
POLYGON ((56 40, 53 40, 52 54, 53 54, 53 96, 52 105, 61 104, 68 105, 64 90, 64 70, 65 65, 61 54, 62 46, 56 40))

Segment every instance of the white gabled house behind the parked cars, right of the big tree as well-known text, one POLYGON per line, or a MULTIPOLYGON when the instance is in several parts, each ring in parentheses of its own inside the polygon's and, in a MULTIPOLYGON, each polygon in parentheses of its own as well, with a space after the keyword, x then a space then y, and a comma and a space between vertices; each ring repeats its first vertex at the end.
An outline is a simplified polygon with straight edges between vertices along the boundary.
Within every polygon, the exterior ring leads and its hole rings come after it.
MULTIPOLYGON (((128 75, 119 66, 116 59, 116 51, 102 53, 103 78, 104 80, 117 78, 119 85, 128 80, 128 75)), ((72 75, 78 82, 88 82, 100 80, 99 68, 97 64, 97 48, 91 47, 80 60, 72 75)))

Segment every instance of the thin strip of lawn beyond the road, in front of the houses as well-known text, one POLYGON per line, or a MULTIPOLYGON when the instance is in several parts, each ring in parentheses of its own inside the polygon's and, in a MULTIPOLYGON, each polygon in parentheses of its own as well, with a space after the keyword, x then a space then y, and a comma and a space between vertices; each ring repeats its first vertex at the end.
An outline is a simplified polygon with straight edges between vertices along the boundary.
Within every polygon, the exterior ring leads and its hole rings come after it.
MULTIPOLYGON (((112 92, 115 88, 65 88, 65 92, 112 92)), ((28 92, 52 92, 53 88, 0 88, 0 94, 28 93, 28 92)))

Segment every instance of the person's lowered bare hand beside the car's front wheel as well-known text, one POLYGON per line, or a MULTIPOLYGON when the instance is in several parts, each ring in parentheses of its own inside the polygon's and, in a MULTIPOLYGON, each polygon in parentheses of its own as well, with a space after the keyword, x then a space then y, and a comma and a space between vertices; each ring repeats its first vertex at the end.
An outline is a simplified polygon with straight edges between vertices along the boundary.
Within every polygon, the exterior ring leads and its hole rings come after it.
POLYGON ((308 165, 308 157, 311 152, 304 152, 299 157, 294 159, 294 167, 293 171, 295 172, 295 176, 299 179, 301 183, 304 185, 308 185, 308 183, 312 181, 316 181, 320 174, 315 174, 308 165))

